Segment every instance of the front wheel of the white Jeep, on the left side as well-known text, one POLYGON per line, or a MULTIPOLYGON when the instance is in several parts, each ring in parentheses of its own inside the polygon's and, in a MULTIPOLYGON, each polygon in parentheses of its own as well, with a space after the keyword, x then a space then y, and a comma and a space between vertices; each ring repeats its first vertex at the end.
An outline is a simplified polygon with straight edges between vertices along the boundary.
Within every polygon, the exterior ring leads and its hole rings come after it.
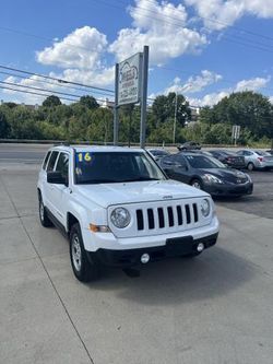
POLYGON ((87 256, 79 223, 72 226, 69 240, 70 259, 75 278, 81 282, 90 282, 98 279, 98 263, 91 256, 87 256))

